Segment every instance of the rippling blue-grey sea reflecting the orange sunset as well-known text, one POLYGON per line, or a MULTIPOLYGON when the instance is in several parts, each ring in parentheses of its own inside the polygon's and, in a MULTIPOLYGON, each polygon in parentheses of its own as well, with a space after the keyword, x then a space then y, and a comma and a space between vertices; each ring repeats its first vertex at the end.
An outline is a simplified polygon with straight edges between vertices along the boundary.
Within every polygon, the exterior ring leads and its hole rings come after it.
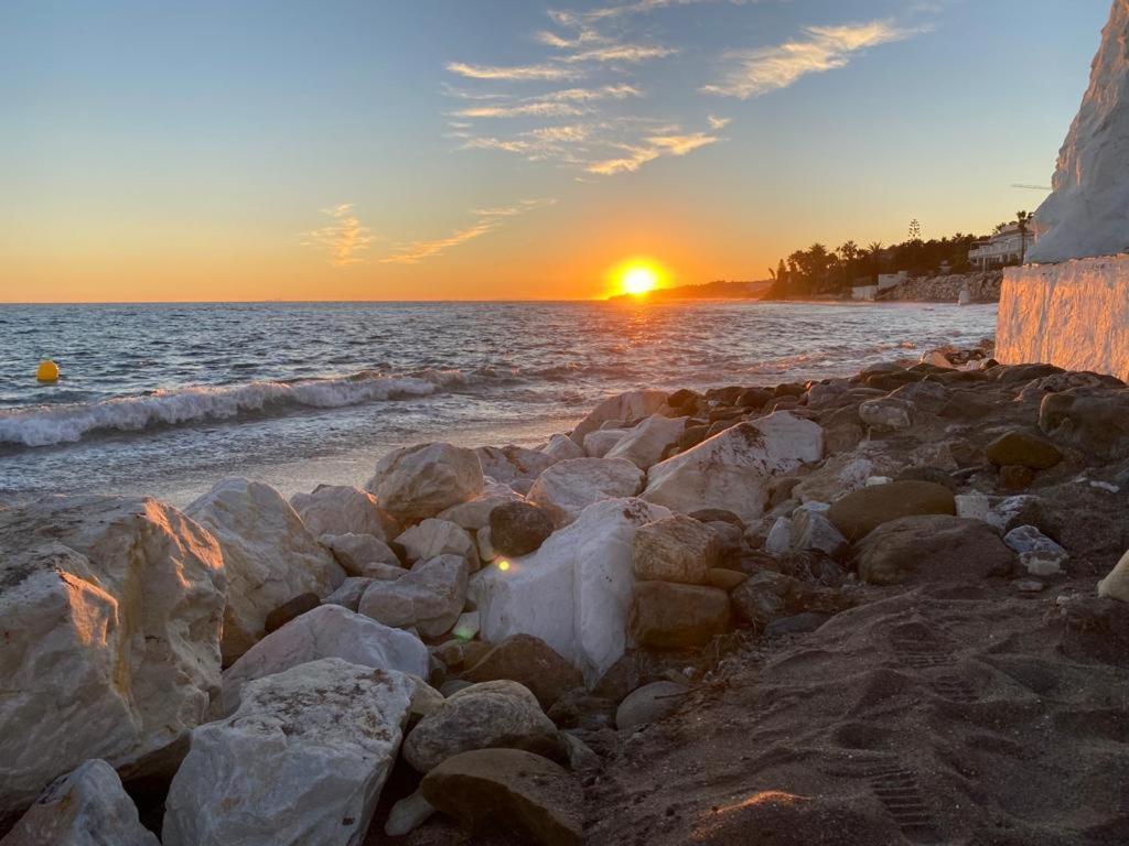
POLYGON ((945 303, 0 306, 0 503, 361 485, 409 443, 537 446, 620 391, 848 376, 995 328, 945 303))

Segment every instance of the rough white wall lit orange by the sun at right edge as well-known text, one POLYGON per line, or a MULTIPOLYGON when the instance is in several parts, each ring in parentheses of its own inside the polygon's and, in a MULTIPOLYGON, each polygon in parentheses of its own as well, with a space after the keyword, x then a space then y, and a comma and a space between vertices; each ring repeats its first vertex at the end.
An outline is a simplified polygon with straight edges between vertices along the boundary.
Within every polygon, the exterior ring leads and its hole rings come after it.
POLYGON ((1129 256, 1005 270, 996 358, 1129 380, 1129 256))

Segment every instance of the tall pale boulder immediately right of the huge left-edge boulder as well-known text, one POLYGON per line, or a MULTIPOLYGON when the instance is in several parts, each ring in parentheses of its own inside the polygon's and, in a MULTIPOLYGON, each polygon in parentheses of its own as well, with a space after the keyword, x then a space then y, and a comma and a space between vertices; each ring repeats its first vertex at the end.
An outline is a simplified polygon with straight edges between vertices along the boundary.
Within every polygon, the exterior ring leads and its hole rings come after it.
POLYGON ((219 541, 227 572, 224 661, 230 663, 263 634, 266 615, 303 593, 329 596, 345 573, 270 485, 229 478, 184 513, 219 541))

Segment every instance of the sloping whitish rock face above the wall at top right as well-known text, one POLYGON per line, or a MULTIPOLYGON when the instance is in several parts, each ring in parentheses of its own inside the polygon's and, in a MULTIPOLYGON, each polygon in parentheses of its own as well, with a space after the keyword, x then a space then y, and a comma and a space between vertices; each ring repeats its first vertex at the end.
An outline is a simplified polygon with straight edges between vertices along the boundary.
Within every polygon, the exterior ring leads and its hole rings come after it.
POLYGON ((1030 262, 1129 252, 1129 1, 1114 0, 1089 88, 1059 151, 1054 192, 1035 212, 1045 229, 1030 262))

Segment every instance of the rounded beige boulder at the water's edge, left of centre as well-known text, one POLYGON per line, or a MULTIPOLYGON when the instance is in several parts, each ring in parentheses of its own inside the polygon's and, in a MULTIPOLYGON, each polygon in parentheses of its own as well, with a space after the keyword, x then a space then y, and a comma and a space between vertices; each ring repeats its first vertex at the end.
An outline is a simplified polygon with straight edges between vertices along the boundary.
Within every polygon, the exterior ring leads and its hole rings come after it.
POLYGON ((482 493, 482 465, 474 450, 449 443, 397 449, 376 464, 367 488, 397 520, 422 520, 482 493))

